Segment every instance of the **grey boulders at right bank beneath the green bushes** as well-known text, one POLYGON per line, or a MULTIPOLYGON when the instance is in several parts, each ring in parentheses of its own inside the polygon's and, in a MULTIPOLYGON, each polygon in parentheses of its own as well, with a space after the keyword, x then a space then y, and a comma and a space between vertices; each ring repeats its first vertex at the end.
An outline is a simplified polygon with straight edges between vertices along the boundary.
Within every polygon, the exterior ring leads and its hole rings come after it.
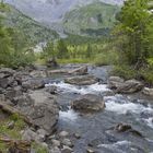
POLYGON ((143 83, 137 80, 123 81, 121 78, 111 76, 108 80, 108 87, 115 90, 116 93, 131 94, 143 89, 143 83))

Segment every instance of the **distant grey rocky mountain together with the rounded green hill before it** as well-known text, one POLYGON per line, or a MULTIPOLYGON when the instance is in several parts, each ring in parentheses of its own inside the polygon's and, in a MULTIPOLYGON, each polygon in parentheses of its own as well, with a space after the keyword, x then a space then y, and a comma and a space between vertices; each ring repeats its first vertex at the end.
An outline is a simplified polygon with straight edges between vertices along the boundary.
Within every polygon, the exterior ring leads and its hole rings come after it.
POLYGON ((119 11, 118 5, 121 5, 123 0, 4 0, 4 2, 51 27, 58 34, 66 32, 105 35, 105 32, 108 33, 114 25, 115 13, 119 11))

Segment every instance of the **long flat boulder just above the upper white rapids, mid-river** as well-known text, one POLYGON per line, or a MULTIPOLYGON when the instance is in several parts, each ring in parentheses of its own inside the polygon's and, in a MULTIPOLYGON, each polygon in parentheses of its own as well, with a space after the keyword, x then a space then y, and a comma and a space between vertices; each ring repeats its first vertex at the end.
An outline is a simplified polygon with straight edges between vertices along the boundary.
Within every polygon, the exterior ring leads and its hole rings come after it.
POLYGON ((75 85, 91 85, 97 83, 98 80, 93 75, 80 75, 80 76, 67 78, 64 82, 69 84, 75 84, 75 85))

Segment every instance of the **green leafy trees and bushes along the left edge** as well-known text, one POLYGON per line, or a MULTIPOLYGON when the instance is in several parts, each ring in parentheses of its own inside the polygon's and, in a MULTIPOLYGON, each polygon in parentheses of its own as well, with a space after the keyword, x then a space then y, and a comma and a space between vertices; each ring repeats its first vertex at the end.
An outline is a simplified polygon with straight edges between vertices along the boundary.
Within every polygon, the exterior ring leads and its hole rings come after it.
MULTIPOLYGON (((3 11, 8 5, 0 3, 3 11)), ((9 28, 3 25, 4 16, 0 19, 0 66, 17 68, 31 64, 34 54, 30 49, 30 39, 26 39, 22 31, 9 28)))

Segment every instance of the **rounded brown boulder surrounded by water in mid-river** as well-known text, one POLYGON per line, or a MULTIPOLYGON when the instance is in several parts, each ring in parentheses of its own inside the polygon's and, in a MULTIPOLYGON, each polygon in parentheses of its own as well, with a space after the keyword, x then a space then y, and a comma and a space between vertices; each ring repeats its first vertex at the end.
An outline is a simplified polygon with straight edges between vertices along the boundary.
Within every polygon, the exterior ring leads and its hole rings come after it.
POLYGON ((71 106, 75 110, 92 113, 103 110, 105 108, 105 103, 101 96, 86 94, 73 101, 71 106))

